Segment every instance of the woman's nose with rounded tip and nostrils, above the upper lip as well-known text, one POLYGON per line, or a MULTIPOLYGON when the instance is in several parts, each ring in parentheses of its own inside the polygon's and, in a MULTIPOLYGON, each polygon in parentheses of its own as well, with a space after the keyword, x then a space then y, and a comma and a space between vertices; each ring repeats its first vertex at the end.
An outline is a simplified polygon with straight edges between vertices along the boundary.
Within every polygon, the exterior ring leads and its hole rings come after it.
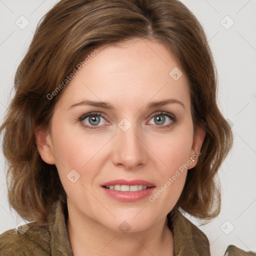
POLYGON ((141 167, 147 161, 147 150, 142 132, 138 133, 135 125, 131 125, 126 131, 117 127, 112 151, 112 161, 115 165, 123 165, 130 170, 141 167))

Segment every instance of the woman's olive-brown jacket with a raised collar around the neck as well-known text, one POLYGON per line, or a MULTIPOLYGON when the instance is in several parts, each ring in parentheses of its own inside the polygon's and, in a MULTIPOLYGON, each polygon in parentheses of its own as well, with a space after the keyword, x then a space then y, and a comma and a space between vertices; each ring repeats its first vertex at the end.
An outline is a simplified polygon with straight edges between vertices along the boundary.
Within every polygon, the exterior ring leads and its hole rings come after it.
MULTIPOLYGON (((49 225, 38 227, 27 223, 18 229, 0 234, 0 256, 71 256, 72 250, 67 234, 66 205, 57 201, 48 217, 49 225)), ((206 235, 179 211, 167 215, 167 224, 173 232, 174 256, 210 256, 206 235)), ((229 245, 225 256, 256 256, 229 245)))

